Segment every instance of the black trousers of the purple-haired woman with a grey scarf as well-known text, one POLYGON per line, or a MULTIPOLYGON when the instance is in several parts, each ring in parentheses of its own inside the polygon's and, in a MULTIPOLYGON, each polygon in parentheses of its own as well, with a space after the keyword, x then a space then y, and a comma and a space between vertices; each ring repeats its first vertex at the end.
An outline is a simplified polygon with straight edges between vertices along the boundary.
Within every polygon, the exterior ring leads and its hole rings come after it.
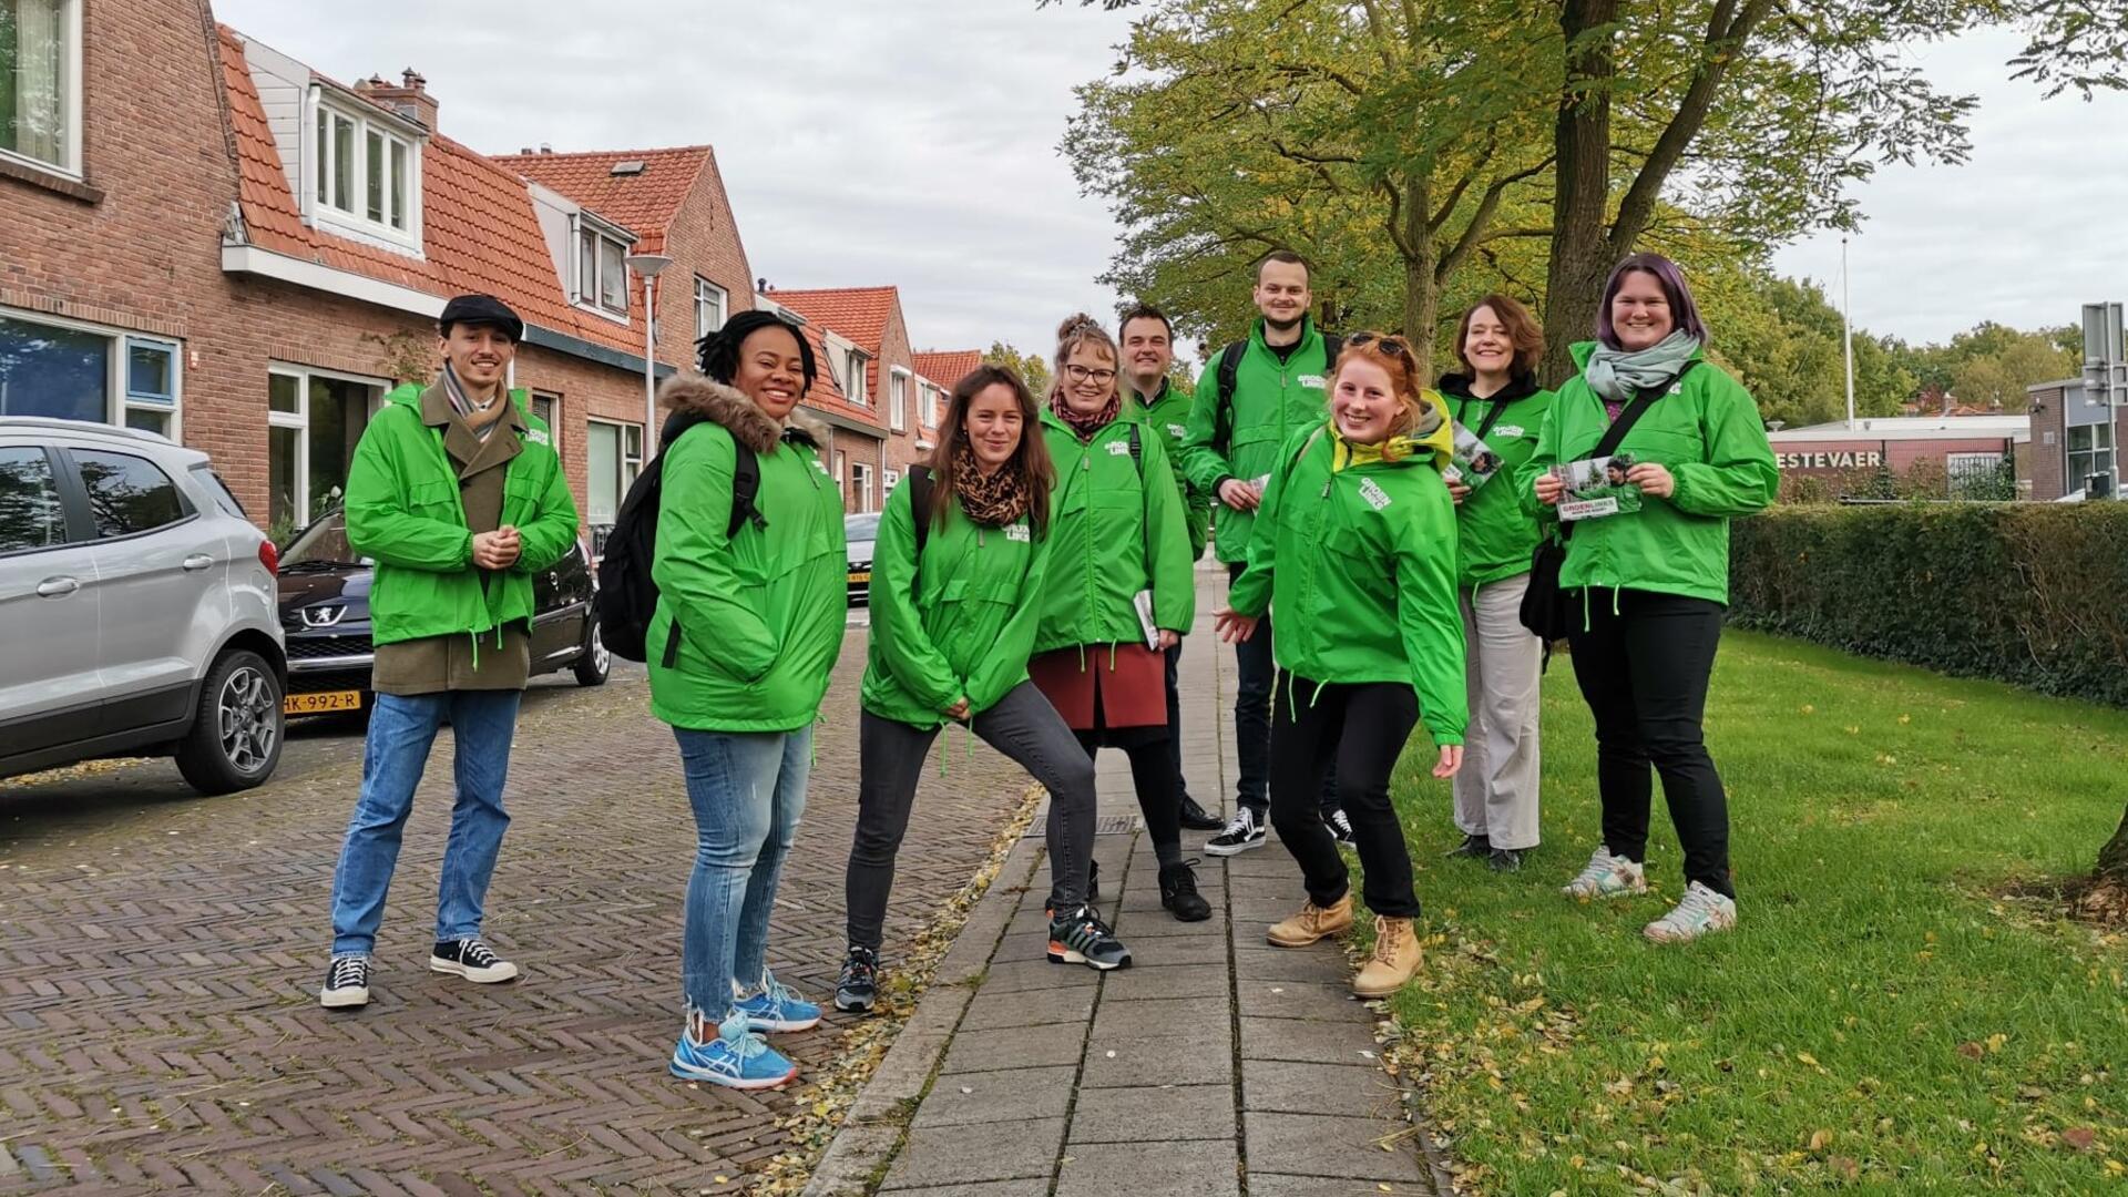
POLYGON ((1685 882, 1736 897, 1728 869, 1728 794, 1700 722, 1722 641, 1722 605, 1651 590, 1587 592, 1587 630, 1566 637, 1575 682, 1596 716, 1596 788, 1613 856, 1647 860, 1653 788, 1685 848, 1685 882), (1613 609, 1615 598, 1615 609, 1613 609))

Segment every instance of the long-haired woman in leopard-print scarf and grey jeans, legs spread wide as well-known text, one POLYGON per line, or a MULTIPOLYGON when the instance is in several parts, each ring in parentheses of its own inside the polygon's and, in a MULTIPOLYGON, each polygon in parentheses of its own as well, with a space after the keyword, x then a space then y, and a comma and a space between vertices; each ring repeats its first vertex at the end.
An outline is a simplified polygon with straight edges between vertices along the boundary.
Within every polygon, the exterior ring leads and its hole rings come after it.
MULTIPOLYGON (((975 368, 953 388, 930 466, 909 471, 879 518, 836 1010, 870 1010, 879 995, 894 854, 924 756, 949 722, 966 724, 1049 790, 1049 909, 1077 918, 1087 907, 1094 763, 1028 682, 1055 481, 1038 420, 1019 375, 975 368)), ((1128 958, 1113 939, 1079 954, 1096 969, 1128 958)))

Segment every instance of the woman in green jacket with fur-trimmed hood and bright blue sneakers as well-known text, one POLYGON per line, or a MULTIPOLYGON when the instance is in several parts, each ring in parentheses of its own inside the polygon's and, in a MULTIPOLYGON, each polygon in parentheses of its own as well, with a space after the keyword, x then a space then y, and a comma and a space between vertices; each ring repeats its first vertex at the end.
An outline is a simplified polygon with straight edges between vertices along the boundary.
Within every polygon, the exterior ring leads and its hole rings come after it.
POLYGON ((843 647, 843 496, 798 417, 813 349, 747 311, 702 341, 702 375, 668 379, 658 511, 651 714, 672 724, 696 854, 681 952, 687 1024, 672 1076, 770 1088, 796 1076, 762 1033, 804 1031, 819 1005, 768 971, 768 914, 798 833, 813 720, 843 647), (704 377, 706 375, 706 377, 704 377), (755 518, 732 520, 745 447, 755 518))

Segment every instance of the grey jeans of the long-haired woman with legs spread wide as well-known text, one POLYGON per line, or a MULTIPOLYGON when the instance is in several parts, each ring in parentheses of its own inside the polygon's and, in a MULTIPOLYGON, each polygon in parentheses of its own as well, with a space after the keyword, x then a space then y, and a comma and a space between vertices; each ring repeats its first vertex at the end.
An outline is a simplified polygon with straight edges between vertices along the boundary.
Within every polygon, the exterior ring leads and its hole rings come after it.
MULTIPOLYGON (((1049 790, 1049 903, 1060 912, 1077 909, 1094 863, 1094 760, 1032 682, 1015 686, 968 726, 1049 790)), ((877 952, 885 937, 894 854, 909 831, 924 756, 938 731, 872 711, 858 720, 858 835, 843 880, 855 948, 877 952)))

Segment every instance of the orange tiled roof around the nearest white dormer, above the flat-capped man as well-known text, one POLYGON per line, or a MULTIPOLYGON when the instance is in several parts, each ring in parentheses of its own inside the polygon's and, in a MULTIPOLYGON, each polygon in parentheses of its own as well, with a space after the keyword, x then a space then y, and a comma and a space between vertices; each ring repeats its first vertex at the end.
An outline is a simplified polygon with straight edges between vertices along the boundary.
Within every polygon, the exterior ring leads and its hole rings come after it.
MULTIPOLYGON (((523 179, 447 136, 430 136, 423 149, 423 258, 304 224, 251 81, 245 38, 228 26, 219 32, 236 134, 238 207, 253 245, 432 296, 485 292, 509 302, 528 324, 641 354, 641 324, 630 330, 568 302, 523 179)), ((630 315, 641 319, 634 294, 630 315)))

